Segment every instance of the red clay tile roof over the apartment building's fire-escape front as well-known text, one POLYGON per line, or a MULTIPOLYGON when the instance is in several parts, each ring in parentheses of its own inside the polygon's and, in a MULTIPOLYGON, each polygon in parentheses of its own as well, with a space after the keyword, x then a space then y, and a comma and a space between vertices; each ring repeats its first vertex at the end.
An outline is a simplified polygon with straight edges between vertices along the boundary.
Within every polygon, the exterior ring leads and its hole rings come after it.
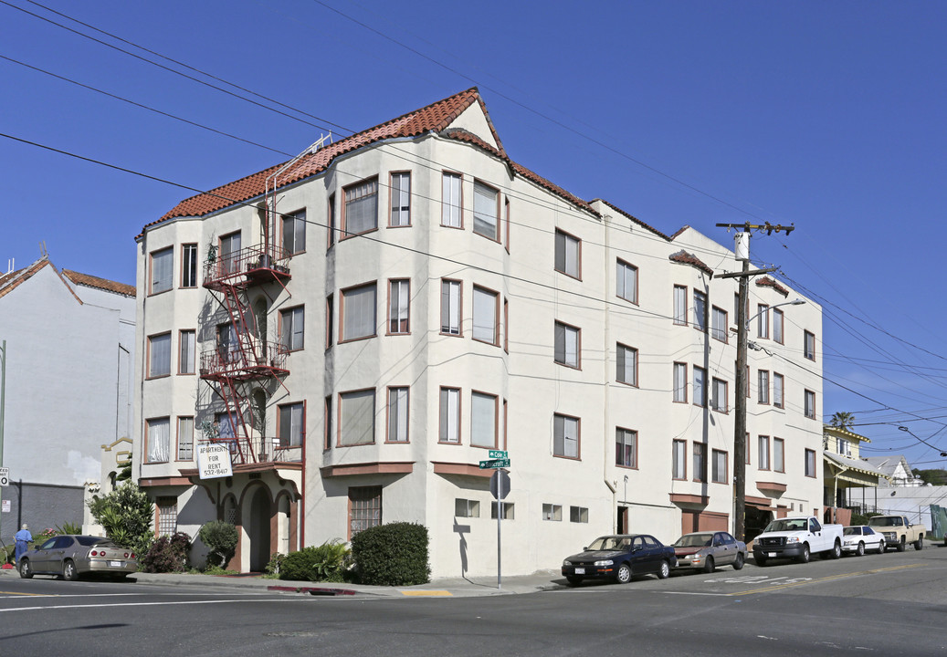
MULTIPOLYGON (((555 186, 549 181, 545 180, 545 178, 542 176, 533 173, 529 169, 520 167, 509 160, 509 157, 503 148, 503 143, 500 141, 499 135, 493 128, 490 115, 487 114, 487 107, 484 105, 483 99, 480 98, 480 93, 476 87, 472 87, 466 91, 460 92, 459 94, 456 94, 450 98, 438 100, 431 105, 420 108, 420 110, 415 110, 414 112, 401 115, 398 118, 393 118, 390 121, 386 121, 385 123, 375 126, 374 128, 369 128, 368 130, 361 133, 352 134, 345 139, 341 139, 333 144, 330 144, 329 146, 325 146, 318 151, 306 155, 295 162, 291 167, 289 167, 289 169, 280 173, 278 186, 282 187, 292 185, 293 183, 296 183, 304 178, 321 173, 322 171, 329 169, 332 162, 339 155, 350 151, 355 151, 362 148, 363 146, 367 146, 384 139, 415 137, 425 133, 441 133, 442 136, 460 141, 467 141, 479 148, 490 151, 492 154, 506 161, 509 166, 520 175, 526 177, 537 185, 543 186, 553 193, 562 196, 563 199, 569 203, 576 204, 583 209, 594 212, 589 204, 582 201, 578 197, 569 194, 561 187, 555 186), (480 105, 480 108, 487 119, 487 123, 490 126, 493 139, 498 145, 498 148, 492 147, 490 144, 487 144, 482 139, 476 137, 474 134, 468 133, 466 131, 450 130, 446 133, 444 132, 451 122, 454 121, 457 116, 461 115, 465 110, 467 110, 467 108, 473 105, 474 102, 480 105)), ((161 219, 145 224, 145 229, 175 217, 203 217, 207 214, 210 214, 211 212, 216 212, 217 210, 223 209, 224 207, 243 203, 249 199, 258 197, 266 191, 267 178, 284 167, 286 164, 287 163, 277 164, 273 167, 270 167, 269 169, 264 169, 257 173, 253 173, 241 178, 240 180, 227 183, 226 185, 216 187, 210 191, 185 199, 181 203, 171 208, 171 210, 161 217, 161 219)), ((142 231, 142 234, 144 234, 144 230, 142 231)))

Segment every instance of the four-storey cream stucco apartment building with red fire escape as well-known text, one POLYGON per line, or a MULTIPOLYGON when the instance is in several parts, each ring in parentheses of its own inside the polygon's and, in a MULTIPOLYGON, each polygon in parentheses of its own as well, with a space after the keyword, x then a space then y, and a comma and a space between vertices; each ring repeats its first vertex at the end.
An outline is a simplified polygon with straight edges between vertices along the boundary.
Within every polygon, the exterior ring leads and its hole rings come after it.
MULTIPOLYGON (((234 566, 407 521, 435 577, 732 526, 734 254, 509 159, 478 91, 183 201, 138 237, 135 476, 234 566), (231 447, 200 479, 194 449, 231 447)), ((822 506, 821 310, 750 285, 747 525, 822 506), (769 310, 771 309, 771 310, 769 310)))

